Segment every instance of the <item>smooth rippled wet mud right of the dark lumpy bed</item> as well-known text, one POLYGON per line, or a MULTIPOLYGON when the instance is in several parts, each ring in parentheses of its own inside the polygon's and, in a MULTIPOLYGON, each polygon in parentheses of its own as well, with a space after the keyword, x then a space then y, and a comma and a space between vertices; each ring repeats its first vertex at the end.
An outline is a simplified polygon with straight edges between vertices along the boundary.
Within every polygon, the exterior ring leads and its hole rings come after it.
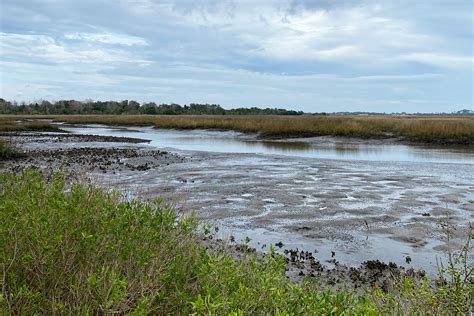
POLYGON ((321 260, 335 251, 353 265, 381 259, 435 273, 446 243, 439 224, 457 226, 451 246, 459 247, 474 221, 471 165, 192 156, 115 183, 143 197, 163 195, 227 234, 251 237, 253 247, 283 241, 317 249, 321 260))

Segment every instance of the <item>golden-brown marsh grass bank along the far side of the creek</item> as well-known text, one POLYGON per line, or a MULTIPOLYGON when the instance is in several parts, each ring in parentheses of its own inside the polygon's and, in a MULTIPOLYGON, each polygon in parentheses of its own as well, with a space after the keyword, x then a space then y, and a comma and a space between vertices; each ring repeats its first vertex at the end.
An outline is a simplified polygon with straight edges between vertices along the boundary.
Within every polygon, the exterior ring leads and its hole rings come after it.
POLYGON ((234 130, 274 138, 323 135, 402 137, 425 143, 474 144, 473 117, 64 115, 50 118, 70 123, 234 130))

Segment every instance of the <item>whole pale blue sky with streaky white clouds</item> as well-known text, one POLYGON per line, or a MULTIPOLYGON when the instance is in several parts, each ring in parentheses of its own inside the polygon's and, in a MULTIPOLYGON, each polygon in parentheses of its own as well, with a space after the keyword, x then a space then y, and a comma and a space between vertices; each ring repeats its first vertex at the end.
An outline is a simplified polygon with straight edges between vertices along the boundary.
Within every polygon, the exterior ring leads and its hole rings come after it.
POLYGON ((0 97, 473 108, 471 0, 1 0, 0 97))

